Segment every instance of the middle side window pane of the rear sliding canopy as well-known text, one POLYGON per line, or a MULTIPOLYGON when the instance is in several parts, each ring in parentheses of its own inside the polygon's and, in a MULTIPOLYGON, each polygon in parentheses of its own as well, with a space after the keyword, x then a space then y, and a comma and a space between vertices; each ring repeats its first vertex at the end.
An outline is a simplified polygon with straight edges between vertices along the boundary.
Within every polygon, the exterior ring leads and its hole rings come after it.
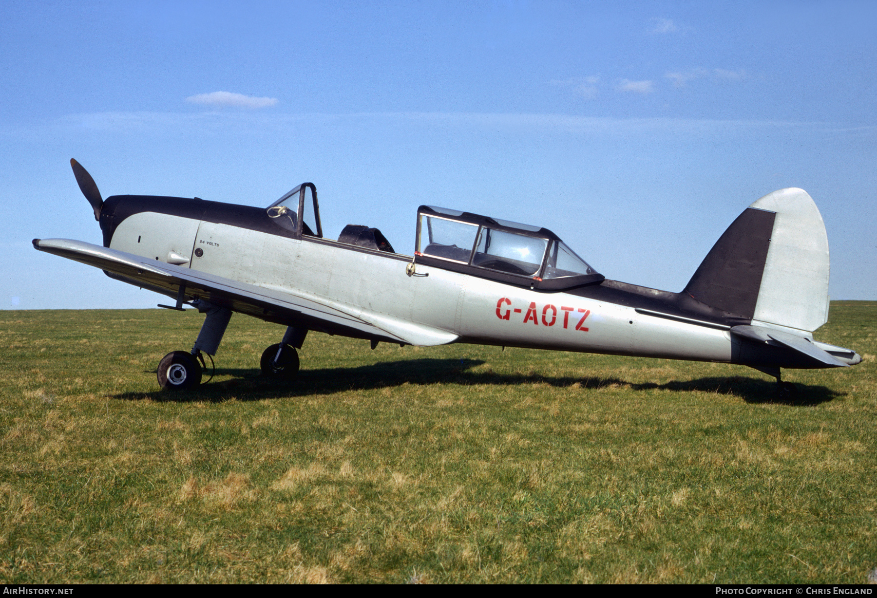
POLYGON ((472 265, 491 270, 535 276, 542 266, 548 239, 481 227, 472 265))

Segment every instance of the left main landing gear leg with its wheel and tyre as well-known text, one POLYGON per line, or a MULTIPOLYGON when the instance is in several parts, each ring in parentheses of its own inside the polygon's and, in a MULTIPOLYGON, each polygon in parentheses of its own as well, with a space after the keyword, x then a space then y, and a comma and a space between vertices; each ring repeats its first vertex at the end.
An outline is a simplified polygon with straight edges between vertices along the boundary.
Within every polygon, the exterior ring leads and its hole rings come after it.
POLYGON ((159 386, 166 390, 189 390, 201 384, 204 363, 202 352, 216 355, 225 328, 232 319, 232 310, 227 307, 203 300, 193 301, 192 305, 201 313, 206 313, 207 317, 190 352, 172 351, 159 362, 159 386))

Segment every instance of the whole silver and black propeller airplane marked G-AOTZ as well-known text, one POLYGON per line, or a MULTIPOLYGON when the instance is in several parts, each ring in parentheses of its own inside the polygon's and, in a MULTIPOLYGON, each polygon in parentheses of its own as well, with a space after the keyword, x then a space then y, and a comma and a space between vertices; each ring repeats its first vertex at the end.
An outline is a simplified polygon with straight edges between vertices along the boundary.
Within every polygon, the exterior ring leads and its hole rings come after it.
POLYGON ((850 367, 851 349, 816 341, 828 318, 829 250, 802 189, 761 197, 734 220, 674 293, 613 281, 556 234, 467 211, 417 209, 413 255, 381 231, 325 238, 317 189, 304 182, 266 208, 198 197, 111 196, 70 160, 103 246, 33 239, 39 251, 206 314, 195 345, 160 361, 161 388, 196 388, 232 312, 285 325, 262 374, 292 380, 309 331, 433 346, 501 345, 739 364, 795 385, 781 368, 850 367))

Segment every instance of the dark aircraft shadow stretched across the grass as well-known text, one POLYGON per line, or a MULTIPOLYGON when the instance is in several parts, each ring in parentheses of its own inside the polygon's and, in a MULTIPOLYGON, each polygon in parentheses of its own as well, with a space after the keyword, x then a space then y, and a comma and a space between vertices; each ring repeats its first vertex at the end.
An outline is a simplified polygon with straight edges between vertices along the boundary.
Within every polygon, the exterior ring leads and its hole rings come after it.
MULTIPOLYGON (((709 377, 691 381, 630 382, 617 377, 590 376, 543 376, 539 374, 496 374, 492 371, 471 371, 484 360, 422 359, 382 361, 370 366, 331 367, 301 370, 295 381, 278 381, 260 375, 256 368, 217 367, 215 376, 232 376, 231 380, 204 384, 193 391, 170 393, 156 390, 148 393, 121 393, 114 395, 121 400, 150 398, 153 401, 206 401, 223 402, 235 397, 238 401, 259 401, 266 398, 296 397, 307 395, 332 395, 348 390, 374 390, 401 387, 404 383, 428 384, 474 384, 519 385, 548 384, 555 388, 598 389, 630 388, 633 391, 670 390, 674 392, 707 392, 718 395, 738 396, 747 403, 777 403, 796 406, 817 405, 829 402, 845 393, 824 386, 798 384, 794 399, 780 400, 776 396, 773 381, 748 376, 709 377)), ((205 374, 210 374, 210 371, 205 374)), ((146 370, 145 374, 155 374, 146 370)))

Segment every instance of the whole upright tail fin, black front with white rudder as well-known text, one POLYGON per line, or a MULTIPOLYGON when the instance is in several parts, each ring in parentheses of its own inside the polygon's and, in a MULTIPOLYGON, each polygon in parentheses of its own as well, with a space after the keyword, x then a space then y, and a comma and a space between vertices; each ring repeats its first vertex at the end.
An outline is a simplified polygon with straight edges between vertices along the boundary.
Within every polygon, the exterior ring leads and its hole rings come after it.
POLYGON ((816 203, 802 189, 781 189, 740 214, 684 292, 757 322, 810 332, 827 320, 828 276, 816 203))

